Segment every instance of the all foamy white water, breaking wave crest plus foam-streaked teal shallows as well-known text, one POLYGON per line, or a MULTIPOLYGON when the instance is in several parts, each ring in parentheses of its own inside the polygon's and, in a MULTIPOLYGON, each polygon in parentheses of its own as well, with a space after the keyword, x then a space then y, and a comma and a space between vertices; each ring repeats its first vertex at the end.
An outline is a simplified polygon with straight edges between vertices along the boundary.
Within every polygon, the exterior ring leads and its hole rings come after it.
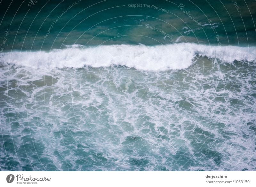
POLYGON ((2 53, 1 169, 255 170, 255 58, 194 43, 2 53))

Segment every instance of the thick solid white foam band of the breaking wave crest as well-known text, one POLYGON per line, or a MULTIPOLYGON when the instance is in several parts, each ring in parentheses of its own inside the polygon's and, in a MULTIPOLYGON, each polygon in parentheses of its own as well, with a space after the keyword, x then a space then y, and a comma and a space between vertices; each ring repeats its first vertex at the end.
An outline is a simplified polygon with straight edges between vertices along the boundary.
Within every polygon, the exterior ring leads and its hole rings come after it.
POLYGON ((255 61, 256 47, 207 46, 195 43, 169 45, 101 45, 98 47, 68 46, 67 49, 45 51, 13 51, 3 53, 2 61, 34 68, 121 65, 140 70, 161 71, 184 69, 192 65, 196 54, 234 60, 255 61))

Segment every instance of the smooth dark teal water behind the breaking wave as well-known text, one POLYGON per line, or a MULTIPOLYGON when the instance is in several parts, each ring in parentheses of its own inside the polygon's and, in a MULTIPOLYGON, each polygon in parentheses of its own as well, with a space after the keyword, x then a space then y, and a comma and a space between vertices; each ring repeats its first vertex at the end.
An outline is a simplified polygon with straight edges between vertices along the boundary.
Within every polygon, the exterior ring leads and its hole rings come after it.
POLYGON ((196 42, 217 45, 219 35, 222 45, 255 45, 255 1, 40 1, 32 7, 29 1, 1 2, 0 41, 6 29, 10 29, 5 50, 49 50, 59 49, 63 44, 82 45, 108 44, 168 44, 180 37, 180 42, 196 42), (97 4, 96 4, 97 3, 97 4), (21 6, 20 6, 21 4, 21 6), (94 5, 93 5, 94 4, 94 5), (142 4, 142 7, 127 7, 142 4), (147 4, 149 8, 144 7, 147 4), (153 5, 153 7, 152 7, 153 5), (179 7, 180 6, 180 7, 179 7), (9 7, 9 8, 8 8, 9 7), (166 13, 154 9, 168 10, 166 13), (8 8, 8 9, 7 9, 8 8), (6 11, 7 10, 7 11, 6 11), (17 11, 18 10, 18 11, 17 11), (189 12, 186 14, 186 12, 189 12), (198 25, 195 20, 201 25, 198 25), (4 16, 4 17, 3 17, 4 16), (58 18, 60 17, 60 19, 58 18), (45 39, 52 22, 50 34, 45 39), (209 20, 216 27, 214 33, 209 20), (158 31, 145 25, 159 28, 158 31), (163 30, 165 35, 160 32, 163 30), (190 31, 192 30, 192 31, 190 31), (165 38, 169 34, 173 39, 165 38), (93 38, 94 37, 94 38, 93 38), (15 39, 16 38, 16 39, 15 39), (8 45, 8 46, 7 46, 8 45))

